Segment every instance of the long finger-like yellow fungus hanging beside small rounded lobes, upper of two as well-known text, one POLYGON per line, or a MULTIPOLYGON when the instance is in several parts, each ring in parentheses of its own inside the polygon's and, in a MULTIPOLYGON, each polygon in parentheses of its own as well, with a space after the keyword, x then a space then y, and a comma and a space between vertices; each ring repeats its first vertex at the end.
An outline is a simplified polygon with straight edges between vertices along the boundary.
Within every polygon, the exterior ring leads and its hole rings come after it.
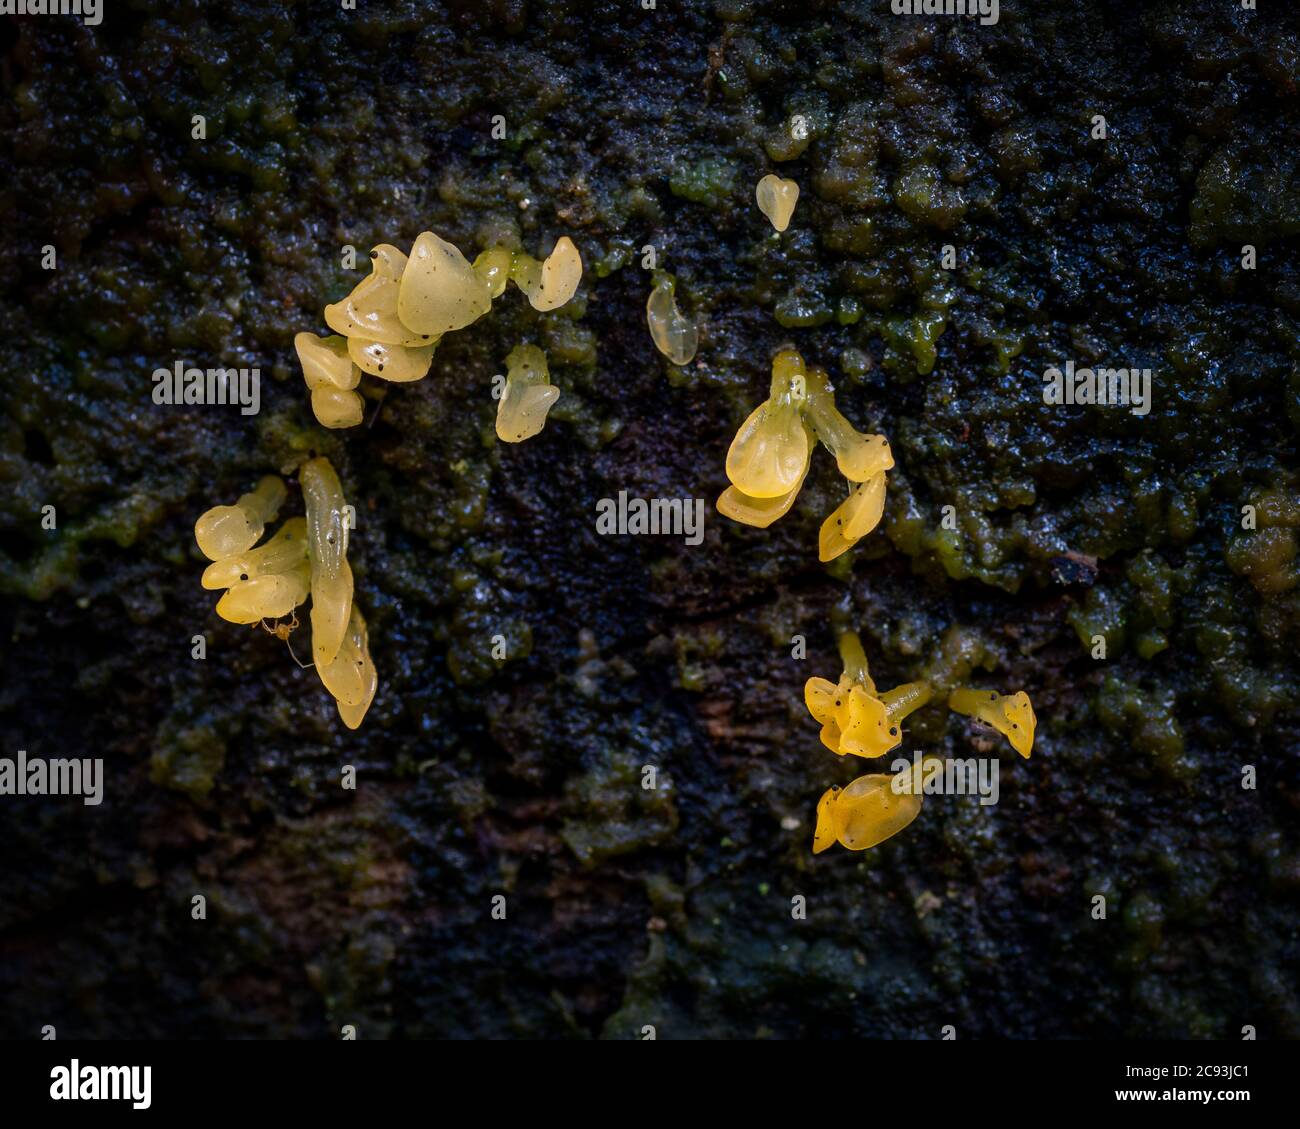
POLYGON ((352 570, 347 563, 346 501, 329 459, 311 459, 298 472, 307 509, 311 561, 312 656, 326 666, 338 656, 352 611, 352 570))

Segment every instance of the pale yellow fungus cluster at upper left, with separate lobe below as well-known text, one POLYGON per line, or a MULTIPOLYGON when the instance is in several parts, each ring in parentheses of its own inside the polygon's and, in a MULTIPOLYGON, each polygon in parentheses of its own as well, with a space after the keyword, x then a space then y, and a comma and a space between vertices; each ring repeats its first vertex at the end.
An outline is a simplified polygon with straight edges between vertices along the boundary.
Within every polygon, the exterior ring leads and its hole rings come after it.
MULTIPOLYGON (((381 243, 370 251, 370 273, 342 302, 325 307, 325 324, 334 333, 294 338, 312 412, 324 427, 355 427, 363 416, 361 373, 395 384, 421 380, 442 336, 482 317, 507 282, 523 290, 534 310, 546 311, 568 302, 581 278, 582 259, 568 235, 542 261, 498 246, 471 263, 433 232, 416 238, 410 256, 381 243)), ((497 434, 506 442, 537 434, 559 399, 559 389, 549 384, 546 355, 537 346, 521 349, 529 354, 515 377, 515 394, 507 377, 497 406, 497 434), (538 384, 549 392, 530 390, 538 384)))

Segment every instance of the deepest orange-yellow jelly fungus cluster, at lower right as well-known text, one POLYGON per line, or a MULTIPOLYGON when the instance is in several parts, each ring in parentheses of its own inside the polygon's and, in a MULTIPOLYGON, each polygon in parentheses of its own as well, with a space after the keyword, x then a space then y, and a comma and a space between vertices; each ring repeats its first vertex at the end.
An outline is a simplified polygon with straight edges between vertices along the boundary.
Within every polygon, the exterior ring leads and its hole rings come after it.
MULTIPOLYGON (((822 744, 840 756, 883 757, 902 741, 902 721, 933 696, 928 682, 909 682, 880 693, 867 670, 862 640, 854 632, 840 637, 844 672, 838 683, 810 678, 803 687, 809 713, 822 726, 822 744)), ((954 713, 967 714, 1002 734, 1011 747, 1028 757, 1034 748, 1035 717, 1023 691, 998 695, 991 691, 957 689, 948 698, 954 713)), ((905 770, 909 780, 888 773, 858 777, 844 788, 827 788, 816 805, 812 853, 833 843, 850 851, 866 851, 897 835, 920 814, 923 790, 919 773, 905 770)))

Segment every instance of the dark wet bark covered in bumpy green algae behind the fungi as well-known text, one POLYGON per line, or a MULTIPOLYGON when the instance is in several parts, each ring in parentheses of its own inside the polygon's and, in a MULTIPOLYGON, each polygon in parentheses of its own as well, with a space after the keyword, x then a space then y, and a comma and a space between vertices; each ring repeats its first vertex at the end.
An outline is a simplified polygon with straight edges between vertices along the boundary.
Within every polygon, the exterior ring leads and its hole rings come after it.
MULTIPOLYGON (((0 797, 3 1034, 1300 1034, 1300 34, 1136 7, 6 18, 3 753, 107 780, 0 797), (802 189, 783 235, 768 172, 802 189), (344 245, 364 269, 425 229, 567 234, 586 274, 317 428, 294 334, 360 277, 344 245), (650 342, 647 243, 701 324, 686 368, 650 342), (826 567, 824 458, 770 529, 711 512, 785 341, 897 459, 826 567), (506 447, 520 342, 563 395, 506 447), (260 414, 155 405, 178 360, 259 365, 260 414), (1067 360, 1152 368, 1149 414, 1045 406, 1067 360), (358 506, 356 734, 199 587, 195 518, 309 451, 358 506), (599 536, 620 490, 706 498, 703 544, 599 536), (802 705, 845 627, 884 684, 1031 693, 996 806, 932 796, 812 857, 822 791, 883 769, 802 705)), ((942 697, 904 752, 997 754, 942 697)))

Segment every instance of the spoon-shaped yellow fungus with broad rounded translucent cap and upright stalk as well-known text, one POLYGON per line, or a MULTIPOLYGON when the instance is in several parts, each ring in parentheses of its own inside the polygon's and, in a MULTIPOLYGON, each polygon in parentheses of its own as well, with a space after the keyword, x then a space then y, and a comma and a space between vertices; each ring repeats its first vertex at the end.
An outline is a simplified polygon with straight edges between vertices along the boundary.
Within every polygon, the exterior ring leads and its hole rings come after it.
POLYGON ((811 445, 801 415, 803 362, 786 350, 772 362, 768 398, 736 432, 727 451, 727 477, 751 498, 779 498, 803 479, 811 445))

